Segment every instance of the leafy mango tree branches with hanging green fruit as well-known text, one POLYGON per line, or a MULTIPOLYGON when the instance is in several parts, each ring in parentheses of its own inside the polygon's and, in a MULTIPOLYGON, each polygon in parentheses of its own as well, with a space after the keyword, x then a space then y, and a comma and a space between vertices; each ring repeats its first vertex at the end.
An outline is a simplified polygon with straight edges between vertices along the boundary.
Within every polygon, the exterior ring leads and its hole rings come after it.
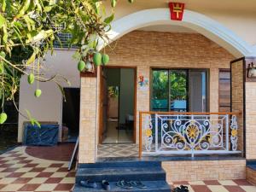
MULTIPOLYGON (((110 2, 114 8, 116 0, 110 2)), ((86 62, 98 51, 99 39, 108 44, 106 32, 110 30, 113 18, 114 11, 106 15, 100 0, 0 0, 2 108, 5 101, 14 101, 21 75, 27 76, 28 84, 38 84, 35 96, 41 95, 39 82, 53 81, 62 89, 60 75, 44 75, 44 55, 53 51, 58 32, 72 35, 68 44, 79 47, 74 57, 86 62)), ((108 61, 108 56, 104 56, 104 61, 108 61)), ((29 112, 26 117, 37 123, 29 112)), ((0 123, 3 122, 0 115, 0 123)))

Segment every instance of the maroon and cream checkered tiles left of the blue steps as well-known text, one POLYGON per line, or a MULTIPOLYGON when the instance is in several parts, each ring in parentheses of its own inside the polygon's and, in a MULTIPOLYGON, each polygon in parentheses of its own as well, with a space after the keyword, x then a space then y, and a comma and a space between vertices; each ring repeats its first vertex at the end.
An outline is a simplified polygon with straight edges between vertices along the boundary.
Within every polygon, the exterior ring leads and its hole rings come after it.
POLYGON ((67 161, 43 160, 26 154, 26 147, 0 155, 0 191, 59 191, 73 189, 75 172, 67 161))

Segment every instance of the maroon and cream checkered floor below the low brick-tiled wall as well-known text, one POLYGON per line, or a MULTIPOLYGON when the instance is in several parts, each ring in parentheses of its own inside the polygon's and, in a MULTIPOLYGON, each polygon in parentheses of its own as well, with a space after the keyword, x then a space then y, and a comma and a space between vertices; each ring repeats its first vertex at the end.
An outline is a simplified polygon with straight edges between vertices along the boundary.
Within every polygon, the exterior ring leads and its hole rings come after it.
POLYGON ((256 187, 246 180, 176 182, 172 189, 181 184, 188 186, 189 192, 256 192, 256 187))

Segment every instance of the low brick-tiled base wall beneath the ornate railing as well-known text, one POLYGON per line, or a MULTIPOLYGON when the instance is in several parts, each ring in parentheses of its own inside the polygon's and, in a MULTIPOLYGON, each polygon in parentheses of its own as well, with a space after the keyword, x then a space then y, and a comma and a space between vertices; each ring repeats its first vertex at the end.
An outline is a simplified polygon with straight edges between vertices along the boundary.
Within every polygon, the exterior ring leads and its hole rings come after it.
POLYGON ((246 160, 163 161, 162 166, 168 183, 246 177, 246 160))

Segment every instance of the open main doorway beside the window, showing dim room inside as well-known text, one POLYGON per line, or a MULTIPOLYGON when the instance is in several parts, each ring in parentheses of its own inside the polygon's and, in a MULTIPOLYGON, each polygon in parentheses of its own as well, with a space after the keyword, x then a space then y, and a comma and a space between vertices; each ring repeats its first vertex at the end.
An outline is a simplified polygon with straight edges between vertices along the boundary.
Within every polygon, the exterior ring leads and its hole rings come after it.
POLYGON ((136 68, 102 67, 100 143, 135 142, 136 68))

